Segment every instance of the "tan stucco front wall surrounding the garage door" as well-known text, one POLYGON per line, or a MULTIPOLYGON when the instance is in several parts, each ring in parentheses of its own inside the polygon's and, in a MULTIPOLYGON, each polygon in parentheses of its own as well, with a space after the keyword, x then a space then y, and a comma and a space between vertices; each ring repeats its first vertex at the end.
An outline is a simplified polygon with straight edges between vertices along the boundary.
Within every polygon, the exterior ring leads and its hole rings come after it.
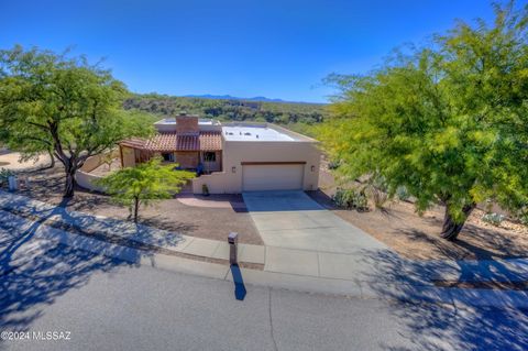
POLYGON ((321 153, 314 142, 238 142, 223 141, 221 173, 193 179, 193 191, 201 194, 206 184, 211 194, 242 193, 242 162, 306 162, 302 179, 305 190, 316 190, 319 184, 321 153), (314 166, 314 171, 312 169, 314 166), (233 173, 234 167, 234 173, 233 173))

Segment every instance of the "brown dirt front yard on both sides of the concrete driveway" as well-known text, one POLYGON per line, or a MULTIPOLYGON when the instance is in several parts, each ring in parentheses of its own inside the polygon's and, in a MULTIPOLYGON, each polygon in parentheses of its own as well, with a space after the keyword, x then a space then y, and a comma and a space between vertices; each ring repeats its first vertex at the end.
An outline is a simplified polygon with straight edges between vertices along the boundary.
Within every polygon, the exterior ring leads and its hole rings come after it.
MULTIPOLYGON (((24 176, 30 176, 31 189, 21 189, 22 194, 55 205, 62 202, 64 176, 59 166, 22 173, 21 177, 24 176)), ((472 213, 459 240, 449 242, 438 235, 443 218, 441 207, 436 207, 421 217, 415 212, 413 204, 405 201, 387 204, 385 211, 342 210, 334 208, 330 199, 336 185, 327 169, 321 169, 320 186, 321 190, 309 194, 314 199, 408 259, 486 260, 528 255, 527 227, 508 220, 503 221, 501 227, 492 226, 480 219, 482 210, 472 213)), ((219 199, 223 200, 211 198, 219 199)), ((224 200, 237 206, 234 209, 194 207, 170 199, 155 207, 142 208, 140 218, 143 223, 199 238, 226 240, 229 232, 235 231, 239 232, 242 243, 263 244, 250 215, 240 207, 242 198, 228 196, 224 200)), ((75 198, 65 206, 72 210, 119 219, 129 217, 129 210, 112 204, 108 196, 80 188, 77 189, 75 198)))

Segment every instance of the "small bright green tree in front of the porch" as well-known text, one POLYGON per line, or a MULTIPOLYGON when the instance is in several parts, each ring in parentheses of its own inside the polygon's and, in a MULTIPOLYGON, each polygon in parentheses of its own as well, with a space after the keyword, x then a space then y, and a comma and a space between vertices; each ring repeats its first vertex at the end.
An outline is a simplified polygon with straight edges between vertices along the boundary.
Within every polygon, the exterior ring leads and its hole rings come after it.
POLYGON ((138 222, 140 205, 148 206, 157 200, 172 198, 182 186, 195 177, 193 172, 176 171, 175 165, 162 165, 161 158, 152 158, 135 167, 127 167, 97 180, 112 198, 130 208, 138 222))

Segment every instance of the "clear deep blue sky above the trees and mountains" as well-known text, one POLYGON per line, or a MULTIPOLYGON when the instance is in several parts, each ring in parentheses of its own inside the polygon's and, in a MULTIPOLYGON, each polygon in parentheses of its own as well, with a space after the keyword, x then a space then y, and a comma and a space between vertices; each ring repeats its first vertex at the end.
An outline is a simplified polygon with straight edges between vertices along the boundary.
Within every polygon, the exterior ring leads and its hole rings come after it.
POLYGON ((476 18, 486 0, 0 0, 0 48, 73 46, 134 92, 326 102, 327 75, 476 18))

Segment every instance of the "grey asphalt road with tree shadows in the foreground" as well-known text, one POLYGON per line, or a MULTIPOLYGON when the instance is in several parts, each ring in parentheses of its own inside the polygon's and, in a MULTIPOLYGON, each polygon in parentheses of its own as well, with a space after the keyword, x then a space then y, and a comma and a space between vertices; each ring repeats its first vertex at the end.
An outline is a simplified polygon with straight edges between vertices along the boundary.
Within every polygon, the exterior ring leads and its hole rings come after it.
POLYGON ((9 238, 0 230, 0 330, 33 340, 3 340, 0 350, 528 349, 528 311, 258 286, 238 300, 226 281, 9 238), (34 340, 48 331, 69 340, 34 340))

